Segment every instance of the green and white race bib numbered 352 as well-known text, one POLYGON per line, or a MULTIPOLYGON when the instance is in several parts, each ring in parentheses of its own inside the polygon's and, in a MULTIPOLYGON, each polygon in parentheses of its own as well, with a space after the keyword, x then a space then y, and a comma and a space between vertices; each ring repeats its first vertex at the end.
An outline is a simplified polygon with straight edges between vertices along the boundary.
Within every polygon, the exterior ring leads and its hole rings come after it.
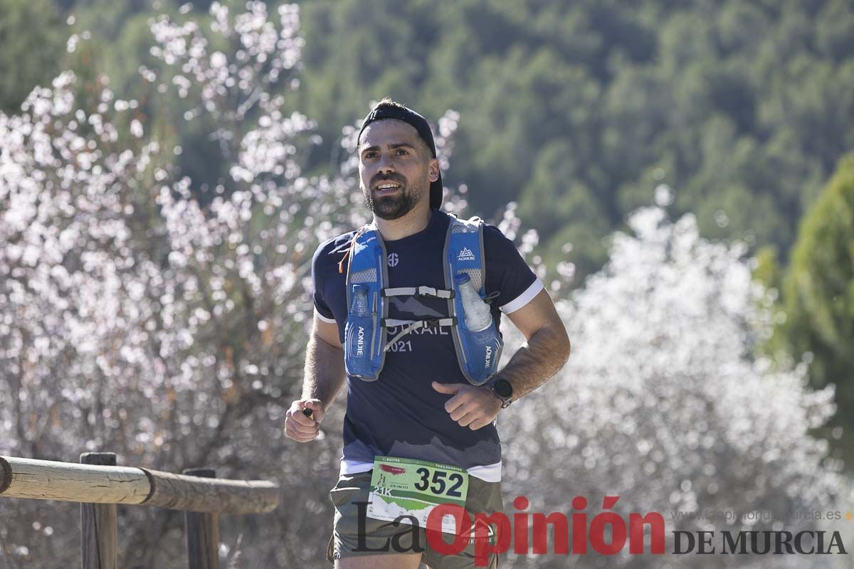
MULTIPOLYGON (((463 468, 436 462, 392 456, 374 458, 371 495, 367 516, 374 520, 394 521, 411 515, 418 526, 427 527, 427 517, 439 504, 465 508, 469 475, 463 468)), ((412 524, 404 518, 403 523, 412 524)), ((452 515, 442 518, 442 532, 456 534, 452 515)))

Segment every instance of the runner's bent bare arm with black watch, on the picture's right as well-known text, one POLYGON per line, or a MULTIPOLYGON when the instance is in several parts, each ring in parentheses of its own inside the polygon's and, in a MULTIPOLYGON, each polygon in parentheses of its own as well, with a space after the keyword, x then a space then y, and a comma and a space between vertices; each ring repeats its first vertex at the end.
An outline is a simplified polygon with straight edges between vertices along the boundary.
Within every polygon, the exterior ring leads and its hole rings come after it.
MULTIPOLYGON (((550 380, 570 357, 570 339, 545 289, 517 311, 506 315, 527 340, 501 369, 498 377, 513 386, 512 399, 522 397, 550 380)), ((445 409, 461 427, 477 430, 494 421, 501 401, 489 386, 441 384, 437 392, 453 395, 445 409)))

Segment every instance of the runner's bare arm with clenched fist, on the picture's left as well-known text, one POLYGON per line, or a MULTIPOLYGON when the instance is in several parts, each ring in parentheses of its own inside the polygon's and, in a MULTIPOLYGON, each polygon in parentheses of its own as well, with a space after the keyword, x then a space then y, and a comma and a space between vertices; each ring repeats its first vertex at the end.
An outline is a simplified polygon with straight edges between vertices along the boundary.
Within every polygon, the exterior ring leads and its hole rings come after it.
POLYGON ((285 435, 300 443, 317 437, 325 410, 335 401, 345 380, 344 351, 338 339, 338 326, 320 320, 315 314, 306 346, 302 397, 288 409, 284 420, 285 435), (308 418, 303 409, 312 409, 312 418, 308 418))

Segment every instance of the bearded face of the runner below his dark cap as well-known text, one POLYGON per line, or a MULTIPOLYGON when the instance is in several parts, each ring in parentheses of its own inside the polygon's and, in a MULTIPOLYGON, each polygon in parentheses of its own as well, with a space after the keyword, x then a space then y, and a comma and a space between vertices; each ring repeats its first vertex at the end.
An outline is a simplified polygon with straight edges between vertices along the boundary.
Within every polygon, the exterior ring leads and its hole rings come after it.
POLYGON ((368 209, 382 219, 405 216, 430 199, 439 160, 412 125, 383 119, 367 125, 359 144, 359 177, 368 209))

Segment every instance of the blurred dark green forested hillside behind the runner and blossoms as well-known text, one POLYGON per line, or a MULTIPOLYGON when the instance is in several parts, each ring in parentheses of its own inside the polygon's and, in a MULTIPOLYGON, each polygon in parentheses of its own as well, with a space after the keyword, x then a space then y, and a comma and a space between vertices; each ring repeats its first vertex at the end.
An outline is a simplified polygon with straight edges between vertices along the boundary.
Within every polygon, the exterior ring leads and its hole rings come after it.
MULTIPOLYGON (((287 96, 322 136, 307 168, 328 168, 341 125, 371 100, 392 96, 428 117, 453 108, 465 158, 448 183, 467 184, 487 217, 516 201, 537 219, 551 270, 566 259, 578 276, 599 268, 603 238, 657 183, 679 189, 676 210, 695 212, 704 235, 774 247, 786 264, 798 221, 854 147, 845 0, 300 5, 301 88, 287 96)), ((152 63, 146 20, 178 9, 3 0, 0 108, 14 111, 67 67, 68 15, 91 32, 92 64, 134 96, 137 68, 152 63)), ((210 183, 221 172, 197 134, 182 127, 181 165, 210 183)))

